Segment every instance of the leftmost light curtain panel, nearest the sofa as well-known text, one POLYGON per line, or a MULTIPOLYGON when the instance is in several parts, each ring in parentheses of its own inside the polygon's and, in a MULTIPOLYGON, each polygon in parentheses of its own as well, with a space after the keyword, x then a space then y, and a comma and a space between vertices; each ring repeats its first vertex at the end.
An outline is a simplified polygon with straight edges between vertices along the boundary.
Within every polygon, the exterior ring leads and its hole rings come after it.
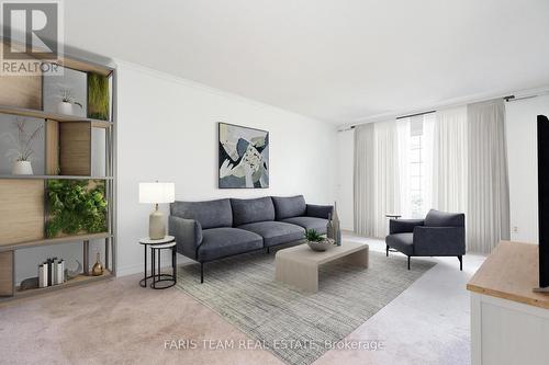
POLYGON ((406 124, 396 121, 355 128, 355 230, 368 237, 385 237, 385 214, 401 212, 401 150, 406 124))

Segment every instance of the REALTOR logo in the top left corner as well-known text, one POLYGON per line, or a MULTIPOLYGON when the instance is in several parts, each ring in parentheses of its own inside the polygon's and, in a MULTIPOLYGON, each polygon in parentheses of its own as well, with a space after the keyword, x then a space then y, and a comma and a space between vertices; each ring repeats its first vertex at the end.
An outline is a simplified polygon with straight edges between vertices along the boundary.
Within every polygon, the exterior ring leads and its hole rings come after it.
POLYGON ((56 0, 2 2, 0 73, 40 75, 57 68, 63 47, 60 5, 56 0))

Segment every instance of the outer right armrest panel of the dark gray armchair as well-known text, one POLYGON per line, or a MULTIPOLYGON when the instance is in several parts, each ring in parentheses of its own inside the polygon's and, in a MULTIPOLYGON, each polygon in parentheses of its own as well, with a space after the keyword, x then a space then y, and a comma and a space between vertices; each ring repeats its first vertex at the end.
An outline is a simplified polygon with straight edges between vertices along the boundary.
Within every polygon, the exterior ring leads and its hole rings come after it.
POLYGON ((424 256, 466 254, 463 227, 414 228, 414 254, 424 256))

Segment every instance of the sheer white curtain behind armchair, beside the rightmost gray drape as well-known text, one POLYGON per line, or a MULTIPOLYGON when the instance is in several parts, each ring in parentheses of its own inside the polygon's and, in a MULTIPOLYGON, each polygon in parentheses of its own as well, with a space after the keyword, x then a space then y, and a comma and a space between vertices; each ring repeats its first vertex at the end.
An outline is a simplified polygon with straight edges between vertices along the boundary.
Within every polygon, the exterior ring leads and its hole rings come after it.
POLYGON ((467 212, 467 106, 436 112, 433 126, 433 207, 467 212))

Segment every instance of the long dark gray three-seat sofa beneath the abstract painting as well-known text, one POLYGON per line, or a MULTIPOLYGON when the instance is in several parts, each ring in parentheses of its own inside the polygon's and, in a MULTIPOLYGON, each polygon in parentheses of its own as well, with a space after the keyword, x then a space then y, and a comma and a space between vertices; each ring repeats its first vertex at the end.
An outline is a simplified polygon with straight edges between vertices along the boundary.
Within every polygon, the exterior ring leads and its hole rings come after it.
POLYGON ((204 263, 303 239, 305 229, 326 232, 330 205, 311 205, 303 195, 253 199, 223 198, 175 202, 170 205, 169 232, 177 251, 204 263))

